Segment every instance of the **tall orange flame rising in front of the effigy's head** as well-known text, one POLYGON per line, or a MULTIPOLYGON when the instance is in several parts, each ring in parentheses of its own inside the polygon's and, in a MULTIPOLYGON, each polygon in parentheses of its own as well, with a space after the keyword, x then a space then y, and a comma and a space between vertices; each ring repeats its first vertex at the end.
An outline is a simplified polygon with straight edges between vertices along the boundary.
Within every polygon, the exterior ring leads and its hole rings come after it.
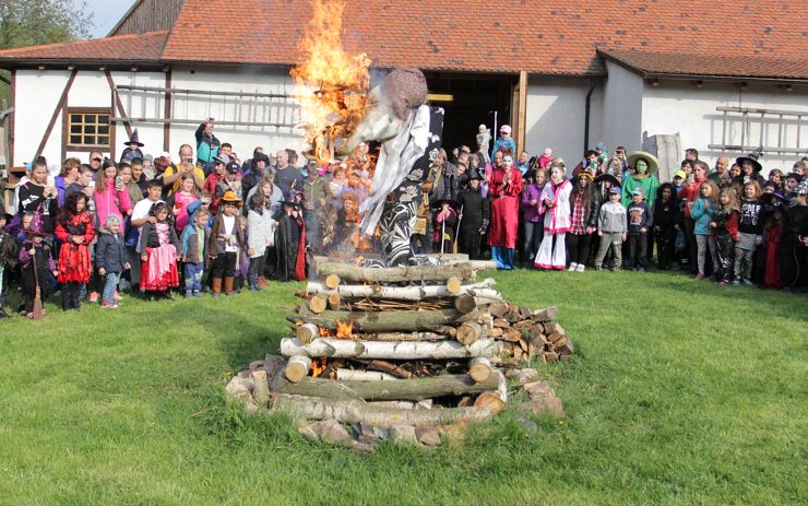
POLYGON ((344 0, 312 3, 314 16, 299 44, 302 60, 290 74, 297 85, 306 140, 318 163, 323 163, 333 160, 337 139, 347 138, 361 119, 370 59, 343 50, 344 0))

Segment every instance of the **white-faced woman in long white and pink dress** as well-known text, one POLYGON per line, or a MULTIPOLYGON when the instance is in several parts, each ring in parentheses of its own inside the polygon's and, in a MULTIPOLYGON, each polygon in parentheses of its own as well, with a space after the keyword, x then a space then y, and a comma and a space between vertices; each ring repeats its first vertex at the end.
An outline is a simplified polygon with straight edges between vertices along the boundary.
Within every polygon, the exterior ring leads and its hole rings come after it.
POLYGON ((566 176, 563 160, 550 163, 550 181, 539 198, 539 214, 544 214, 544 239, 533 267, 563 270, 567 267, 567 232, 570 230, 570 195, 572 185, 566 176))

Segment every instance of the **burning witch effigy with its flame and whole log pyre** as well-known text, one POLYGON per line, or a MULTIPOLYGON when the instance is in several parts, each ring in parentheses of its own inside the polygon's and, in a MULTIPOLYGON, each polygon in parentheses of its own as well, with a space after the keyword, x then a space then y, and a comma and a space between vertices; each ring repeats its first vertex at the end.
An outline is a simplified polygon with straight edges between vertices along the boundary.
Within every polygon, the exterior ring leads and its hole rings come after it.
POLYGON ((253 362, 228 392, 251 412, 292 414, 306 437, 353 436, 363 445, 388 437, 439 443, 452 427, 502 411, 508 377, 530 397, 528 411, 562 413, 536 369, 523 368, 573 353, 557 309, 506 302, 495 280, 477 279, 492 262, 413 251, 443 125, 443 110, 427 103, 424 74, 393 69, 369 89, 370 60, 342 48, 344 4, 314 0, 313 7, 302 59, 292 71, 311 148, 306 154, 334 164, 375 142, 378 158, 367 198, 346 196, 338 213, 322 214, 329 243, 350 252, 312 258, 280 355, 253 362), (380 250, 370 251, 369 237, 380 250))

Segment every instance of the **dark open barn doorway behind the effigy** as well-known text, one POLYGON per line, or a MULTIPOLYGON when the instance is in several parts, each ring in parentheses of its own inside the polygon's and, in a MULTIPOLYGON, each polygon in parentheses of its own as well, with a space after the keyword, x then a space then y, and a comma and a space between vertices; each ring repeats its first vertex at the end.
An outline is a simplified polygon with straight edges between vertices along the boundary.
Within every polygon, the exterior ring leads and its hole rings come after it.
MULTIPOLYGON (((451 157, 451 150, 465 144, 477 151, 477 128, 485 123, 497 138, 497 129, 511 122, 511 104, 516 77, 503 74, 463 74, 425 72, 430 94, 447 95, 444 101, 430 104, 445 109, 443 120, 443 149, 451 157)), ((489 145, 489 150, 492 144, 489 145)))

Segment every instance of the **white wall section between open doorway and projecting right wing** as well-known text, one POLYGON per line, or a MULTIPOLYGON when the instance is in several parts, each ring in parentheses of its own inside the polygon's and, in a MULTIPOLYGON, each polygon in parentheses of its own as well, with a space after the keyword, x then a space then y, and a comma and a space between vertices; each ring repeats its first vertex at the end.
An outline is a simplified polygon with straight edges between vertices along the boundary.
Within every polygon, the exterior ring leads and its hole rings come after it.
MULTIPOLYGON (((552 149, 573 167, 583 157, 586 92, 590 81, 572 78, 531 77, 527 85, 525 143, 533 155, 552 149)), ((591 98, 590 144, 601 140, 603 86, 596 82, 591 98)))

